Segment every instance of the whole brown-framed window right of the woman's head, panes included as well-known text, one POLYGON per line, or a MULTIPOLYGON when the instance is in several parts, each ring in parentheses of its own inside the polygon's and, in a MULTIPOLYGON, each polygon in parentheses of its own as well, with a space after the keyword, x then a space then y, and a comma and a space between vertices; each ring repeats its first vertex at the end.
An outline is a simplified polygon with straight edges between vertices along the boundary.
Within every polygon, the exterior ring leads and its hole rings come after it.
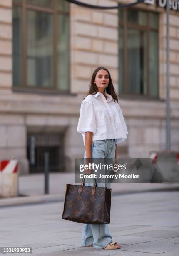
POLYGON ((158 14, 119 10, 119 93, 158 98, 158 14))

